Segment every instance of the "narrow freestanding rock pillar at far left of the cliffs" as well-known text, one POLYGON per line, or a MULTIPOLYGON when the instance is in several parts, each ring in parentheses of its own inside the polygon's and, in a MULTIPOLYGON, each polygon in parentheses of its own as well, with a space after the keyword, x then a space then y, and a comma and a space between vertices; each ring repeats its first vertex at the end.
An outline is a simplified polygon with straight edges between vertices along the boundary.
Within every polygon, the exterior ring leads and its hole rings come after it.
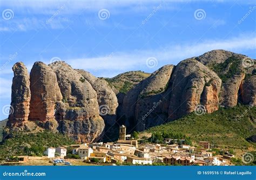
POLYGON ((16 63, 12 71, 14 71, 14 78, 12 79, 11 107, 7 126, 22 130, 29 116, 31 98, 29 74, 22 62, 16 63))

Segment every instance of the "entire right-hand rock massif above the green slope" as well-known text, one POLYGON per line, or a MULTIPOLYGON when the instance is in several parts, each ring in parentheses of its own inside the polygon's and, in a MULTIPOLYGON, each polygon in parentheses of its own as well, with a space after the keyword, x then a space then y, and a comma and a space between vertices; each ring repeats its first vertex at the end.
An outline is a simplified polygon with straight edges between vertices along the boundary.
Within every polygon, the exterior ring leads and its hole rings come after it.
POLYGON ((130 129, 144 130, 176 120, 197 110, 198 106, 212 113, 219 106, 233 107, 238 102, 255 105, 254 62, 242 54, 224 50, 183 60, 172 67, 167 79, 157 79, 154 84, 150 81, 156 75, 153 73, 127 92, 120 102, 118 118, 124 119, 130 129), (156 106, 157 102, 160 103, 156 106))

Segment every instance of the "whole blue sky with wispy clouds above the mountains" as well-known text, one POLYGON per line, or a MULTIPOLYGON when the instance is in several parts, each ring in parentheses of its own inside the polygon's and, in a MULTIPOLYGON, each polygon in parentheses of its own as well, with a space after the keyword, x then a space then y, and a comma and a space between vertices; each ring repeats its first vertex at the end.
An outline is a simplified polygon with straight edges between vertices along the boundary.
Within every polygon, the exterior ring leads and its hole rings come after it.
POLYGON ((254 1, 0 2, 0 119, 11 67, 64 60, 97 77, 153 72, 214 49, 256 59, 254 1), (151 64, 152 63, 152 64, 151 64))

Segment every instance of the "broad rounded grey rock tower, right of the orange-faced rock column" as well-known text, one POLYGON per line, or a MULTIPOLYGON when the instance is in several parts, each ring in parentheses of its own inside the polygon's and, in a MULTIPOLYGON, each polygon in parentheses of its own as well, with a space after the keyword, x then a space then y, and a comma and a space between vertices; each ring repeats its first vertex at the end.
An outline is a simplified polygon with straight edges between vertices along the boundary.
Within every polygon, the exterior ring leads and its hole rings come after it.
POLYGON ((91 84, 63 61, 49 65, 57 75, 62 102, 56 106, 58 130, 77 142, 92 142, 103 134, 104 120, 99 116, 97 93, 91 84))

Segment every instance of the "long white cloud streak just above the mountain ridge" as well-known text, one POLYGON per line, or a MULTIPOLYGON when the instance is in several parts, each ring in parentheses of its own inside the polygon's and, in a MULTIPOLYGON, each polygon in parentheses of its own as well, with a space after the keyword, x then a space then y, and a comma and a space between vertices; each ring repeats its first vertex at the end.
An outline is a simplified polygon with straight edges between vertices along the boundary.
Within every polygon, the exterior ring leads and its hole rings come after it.
POLYGON ((241 52, 243 50, 255 50, 256 49, 256 37, 255 34, 244 34, 235 38, 226 40, 206 40, 203 43, 190 43, 180 45, 170 45, 165 49, 158 50, 142 50, 132 52, 113 52, 103 57, 93 58, 76 58, 65 59, 66 63, 70 64, 73 68, 82 68, 86 71, 97 72, 109 77, 109 71, 111 74, 120 71, 140 70, 139 68, 146 69, 146 60, 149 57, 155 57, 158 60, 158 66, 152 71, 157 70, 163 65, 174 64, 179 61, 199 56, 207 51, 223 49, 233 52, 241 52), (102 73, 106 71, 106 73, 102 73))

